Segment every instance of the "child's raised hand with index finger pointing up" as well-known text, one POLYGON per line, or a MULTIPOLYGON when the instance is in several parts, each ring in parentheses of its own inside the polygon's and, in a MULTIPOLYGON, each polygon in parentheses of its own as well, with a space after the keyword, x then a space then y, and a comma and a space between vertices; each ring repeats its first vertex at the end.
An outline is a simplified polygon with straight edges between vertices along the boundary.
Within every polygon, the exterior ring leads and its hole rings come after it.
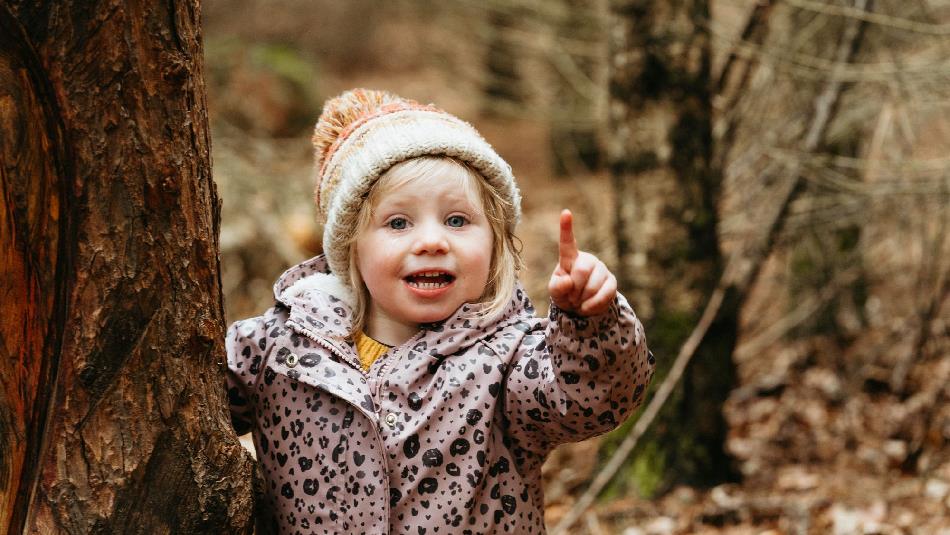
POLYGON ((596 256, 577 250, 570 210, 561 211, 558 262, 548 292, 558 308, 581 316, 606 312, 617 293, 617 278, 607 266, 596 256))

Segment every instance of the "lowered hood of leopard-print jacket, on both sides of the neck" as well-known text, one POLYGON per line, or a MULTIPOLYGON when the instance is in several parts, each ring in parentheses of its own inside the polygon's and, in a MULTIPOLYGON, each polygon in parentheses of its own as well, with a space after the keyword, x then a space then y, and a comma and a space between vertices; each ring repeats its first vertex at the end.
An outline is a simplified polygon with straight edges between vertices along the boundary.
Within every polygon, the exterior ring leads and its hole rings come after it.
MULTIPOLYGON (((324 255, 315 256, 285 271, 274 283, 274 297, 291 309, 291 317, 305 314, 308 309, 334 311, 336 317, 343 318, 342 321, 321 326, 321 330, 331 338, 346 338, 349 335, 349 318, 355 303, 353 292, 330 271, 324 255), (345 307, 345 314, 341 313, 339 307, 345 307)), ((446 355, 474 345, 498 329, 534 316, 534 306, 520 282, 504 309, 491 315, 479 314, 483 307, 481 304, 466 303, 449 318, 420 325, 420 328, 424 332, 437 334, 438 352, 446 355)), ((435 347, 428 349, 433 354, 436 352, 435 347)))

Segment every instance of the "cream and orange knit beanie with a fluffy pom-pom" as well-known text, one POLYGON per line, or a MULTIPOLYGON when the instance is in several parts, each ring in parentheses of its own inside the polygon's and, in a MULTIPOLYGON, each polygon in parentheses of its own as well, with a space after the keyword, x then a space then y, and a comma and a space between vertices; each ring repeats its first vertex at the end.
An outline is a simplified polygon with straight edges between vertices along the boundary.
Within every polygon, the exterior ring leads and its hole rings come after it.
POLYGON ((386 91, 351 89, 328 100, 313 134, 314 192, 324 220, 330 269, 350 283, 348 242, 380 175, 419 156, 450 156, 475 168, 505 198, 506 219, 521 217, 521 194, 509 166, 470 124, 435 106, 386 91))

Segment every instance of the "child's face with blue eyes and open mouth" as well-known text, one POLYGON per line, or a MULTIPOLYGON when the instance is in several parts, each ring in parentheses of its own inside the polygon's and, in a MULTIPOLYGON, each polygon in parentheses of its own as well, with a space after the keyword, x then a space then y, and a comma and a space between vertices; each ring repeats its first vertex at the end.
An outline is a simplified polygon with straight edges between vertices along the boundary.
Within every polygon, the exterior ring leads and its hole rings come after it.
POLYGON ((420 323, 441 321, 485 292, 491 226, 464 179, 428 176, 383 194, 356 239, 369 290, 369 336, 398 344, 420 323))

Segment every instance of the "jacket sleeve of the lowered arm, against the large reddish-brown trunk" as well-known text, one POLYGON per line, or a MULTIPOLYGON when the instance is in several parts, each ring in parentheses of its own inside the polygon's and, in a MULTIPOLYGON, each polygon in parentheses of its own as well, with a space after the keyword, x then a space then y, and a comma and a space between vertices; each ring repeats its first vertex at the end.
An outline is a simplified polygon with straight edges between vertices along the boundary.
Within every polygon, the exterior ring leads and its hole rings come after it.
POLYGON ((270 352, 274 329, 286 314, 275 306, 263 316, 236 321, 228 327, 224 346, 228 356, 227 389, 231 423, 238 435, 255 425, 257 385, 270 352))

